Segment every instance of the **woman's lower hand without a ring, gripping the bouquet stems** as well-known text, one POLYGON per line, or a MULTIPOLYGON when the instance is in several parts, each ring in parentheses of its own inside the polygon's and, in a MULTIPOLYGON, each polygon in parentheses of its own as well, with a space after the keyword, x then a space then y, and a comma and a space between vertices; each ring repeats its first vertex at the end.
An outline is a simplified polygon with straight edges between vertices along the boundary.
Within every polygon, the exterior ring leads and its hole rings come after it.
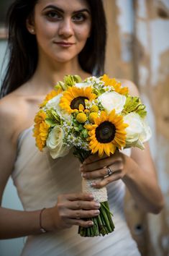
POLYGON ((58 196, 57 205, 50 208, 53 230, 77 226, 93 226, 92 221, 84 218, 92 218, 99 215, 99 202, 93 201, 93 195, 88 193, 76 193, 58 196))

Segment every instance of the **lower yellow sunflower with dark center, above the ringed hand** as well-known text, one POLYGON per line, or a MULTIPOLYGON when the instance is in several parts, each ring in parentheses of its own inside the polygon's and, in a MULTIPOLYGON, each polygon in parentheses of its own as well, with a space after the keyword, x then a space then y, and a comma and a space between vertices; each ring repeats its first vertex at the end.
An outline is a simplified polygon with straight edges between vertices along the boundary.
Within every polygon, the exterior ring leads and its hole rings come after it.
POLYGON ((94 119, 94 124, 86 124, 84 127, 88 129, 89 148, 91 153, 99 151, 101 157, 106 153, 114 154, 116 148, 122 149, 126 142, 125 128, 127 124, 124 124, 123 117, 116 114, 115 110, 112 110, 108 115, 105 111, 101 111, 101 115, 94 119))

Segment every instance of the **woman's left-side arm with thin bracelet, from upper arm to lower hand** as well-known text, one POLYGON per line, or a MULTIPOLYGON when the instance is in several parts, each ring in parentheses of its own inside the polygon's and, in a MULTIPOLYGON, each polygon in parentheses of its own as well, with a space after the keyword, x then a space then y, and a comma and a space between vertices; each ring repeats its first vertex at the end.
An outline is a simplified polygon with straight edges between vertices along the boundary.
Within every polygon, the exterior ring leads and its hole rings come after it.
MULTIPOLYGON (((0 101, 0 205, 6 182, 12 173, 17 156, 17 140, 14 139, 19 125, 14 104, 0 101), (17 121, 16 121, 17 120, 17 121)), ((23 121, 22 121, 23 123, 23 121)), ((40 234, 40 210, 20 211, 0 206, 0 239, 9 239, 30 234, 40 234)), ((91 218, 99 215, 99 204, 90 194, 77 193, 60 195, 57 205, 42 212, 42 226, 47 231, 69 228, 70 226, 93 226, 91 218), (83 209, 83 210, 81 210, 83 209)))

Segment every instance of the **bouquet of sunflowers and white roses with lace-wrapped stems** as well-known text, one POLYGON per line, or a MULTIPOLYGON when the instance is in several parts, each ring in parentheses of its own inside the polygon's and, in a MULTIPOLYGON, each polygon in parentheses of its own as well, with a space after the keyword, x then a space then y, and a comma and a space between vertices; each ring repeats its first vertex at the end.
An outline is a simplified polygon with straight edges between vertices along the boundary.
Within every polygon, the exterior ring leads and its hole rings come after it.
MULTIPOLYGON (((144 149, 151 135, 146 114, 140 98, 129 95, 127 87, 106 74, 83 81, 78 75, 67 75, 40 105, 34 137, 37 147, 47 148, 52 158, 63 157, 73 148, 83 163, 94 153, 101 157, 124 148, 144 149)), ((106 187, 96 189, 91 183, 82 178, 82 189, 100 202, 100 214, 90 218, 92 227, 79 226, 78 233, 104 236, 114 231, 106 187)))

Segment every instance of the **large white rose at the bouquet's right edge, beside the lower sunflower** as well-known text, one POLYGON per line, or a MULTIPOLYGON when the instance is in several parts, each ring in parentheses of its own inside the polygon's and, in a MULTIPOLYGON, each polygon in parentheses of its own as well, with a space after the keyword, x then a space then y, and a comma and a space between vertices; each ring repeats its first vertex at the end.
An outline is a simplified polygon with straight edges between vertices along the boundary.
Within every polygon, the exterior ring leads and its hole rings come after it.
POLYGON ((144 149, 143 143, 151 137, 150 127, 147 125, 145 119, 142 119, 139 114, 132 112, 124 116, 124 123, 129 125, 126 128, 126 147, 144 149))

